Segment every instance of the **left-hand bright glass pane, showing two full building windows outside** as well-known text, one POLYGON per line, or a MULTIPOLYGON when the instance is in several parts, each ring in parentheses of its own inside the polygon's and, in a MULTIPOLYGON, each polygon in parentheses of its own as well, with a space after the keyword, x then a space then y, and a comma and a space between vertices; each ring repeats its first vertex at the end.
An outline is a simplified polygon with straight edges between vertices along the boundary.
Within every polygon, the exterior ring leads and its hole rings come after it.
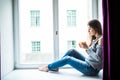
POLYGON ((52 0, 19 0, 20 64, 54 60, 52 11, 52 0))

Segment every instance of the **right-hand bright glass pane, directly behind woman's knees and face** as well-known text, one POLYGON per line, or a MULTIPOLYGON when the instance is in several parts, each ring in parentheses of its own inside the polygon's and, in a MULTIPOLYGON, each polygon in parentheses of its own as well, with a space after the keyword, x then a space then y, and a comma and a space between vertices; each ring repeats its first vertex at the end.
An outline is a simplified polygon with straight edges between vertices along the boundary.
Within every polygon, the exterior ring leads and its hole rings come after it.
POLYGON ((92 18, 91 0, 59 0, 59 55, 79 48, 87 39, 87 22, 92 18))

